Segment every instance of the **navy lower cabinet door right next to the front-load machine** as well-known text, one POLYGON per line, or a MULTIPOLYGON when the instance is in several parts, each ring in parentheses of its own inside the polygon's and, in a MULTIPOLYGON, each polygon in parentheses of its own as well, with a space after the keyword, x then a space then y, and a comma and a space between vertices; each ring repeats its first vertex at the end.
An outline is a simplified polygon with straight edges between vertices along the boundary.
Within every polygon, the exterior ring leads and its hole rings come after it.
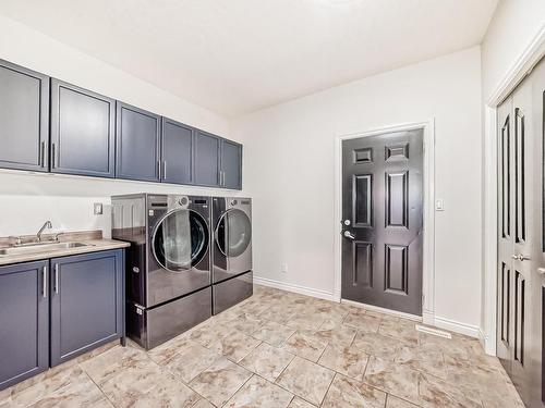
POLYGON ((124 335, 123 251, 51 259, 51 367, 124 335))

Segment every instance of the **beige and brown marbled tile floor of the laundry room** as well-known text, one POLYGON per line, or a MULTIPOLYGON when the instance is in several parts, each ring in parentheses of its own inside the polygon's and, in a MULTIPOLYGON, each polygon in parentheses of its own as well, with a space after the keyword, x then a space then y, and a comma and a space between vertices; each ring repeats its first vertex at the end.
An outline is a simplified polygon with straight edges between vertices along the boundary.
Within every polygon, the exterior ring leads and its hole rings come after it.
POLYGON ((0 392, 7 407, 522 407, 479 342, 256 286, 148 353, 111 344, 0 392))

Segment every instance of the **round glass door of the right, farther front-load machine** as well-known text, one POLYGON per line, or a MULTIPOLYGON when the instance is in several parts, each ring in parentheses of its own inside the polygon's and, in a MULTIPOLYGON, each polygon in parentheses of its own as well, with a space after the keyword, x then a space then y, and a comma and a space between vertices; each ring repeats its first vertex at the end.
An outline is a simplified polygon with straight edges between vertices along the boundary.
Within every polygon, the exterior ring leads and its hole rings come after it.
POLYGON ((239 209, 228 210, 216 227, 216 243, 227 257, 240 257, 252 242, 252 223, 239 209))

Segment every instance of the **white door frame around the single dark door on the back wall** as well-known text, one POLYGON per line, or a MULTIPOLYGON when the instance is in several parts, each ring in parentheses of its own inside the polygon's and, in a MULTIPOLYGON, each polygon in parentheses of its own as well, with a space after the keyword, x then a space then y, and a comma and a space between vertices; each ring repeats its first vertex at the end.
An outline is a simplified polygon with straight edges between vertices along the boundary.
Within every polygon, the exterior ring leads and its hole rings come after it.
POLYGON ((340 135, 335 141, 335 285, 334 298, 341 300, 341 220, 342 220, 342 141, 385 133, 423 129, 423 271, 422 271, 422 319, 426 324, 435 323, 435 119, 423 122, 383 126, 371 131, 340 135))

